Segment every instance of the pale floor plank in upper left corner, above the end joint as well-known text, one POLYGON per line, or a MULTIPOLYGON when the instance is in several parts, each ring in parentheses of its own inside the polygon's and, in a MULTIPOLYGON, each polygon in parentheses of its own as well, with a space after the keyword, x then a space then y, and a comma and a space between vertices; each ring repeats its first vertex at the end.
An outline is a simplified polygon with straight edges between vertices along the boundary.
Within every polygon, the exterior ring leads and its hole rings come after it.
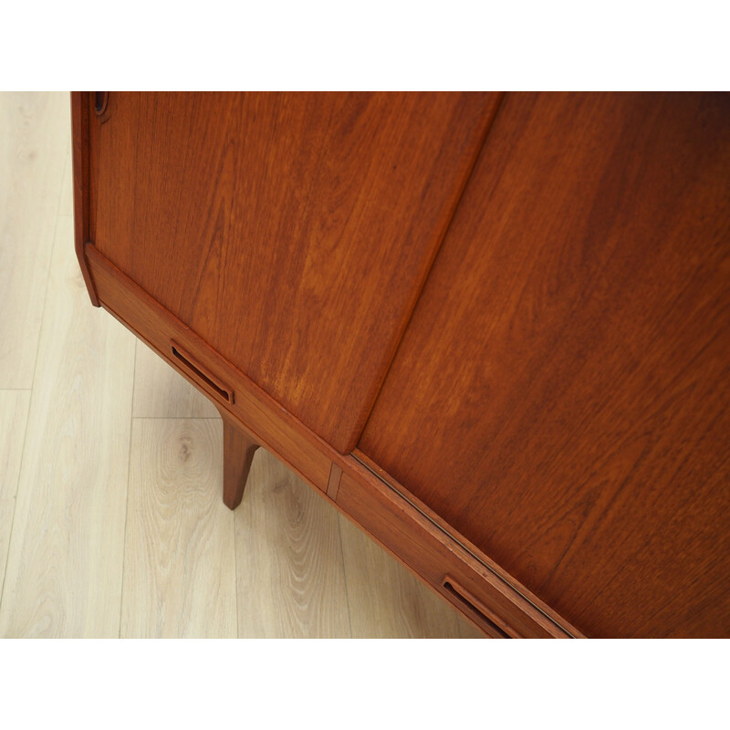
POLYGON ((67 118, 66 94, 0 94, 0 388, 33 384, 67 118))

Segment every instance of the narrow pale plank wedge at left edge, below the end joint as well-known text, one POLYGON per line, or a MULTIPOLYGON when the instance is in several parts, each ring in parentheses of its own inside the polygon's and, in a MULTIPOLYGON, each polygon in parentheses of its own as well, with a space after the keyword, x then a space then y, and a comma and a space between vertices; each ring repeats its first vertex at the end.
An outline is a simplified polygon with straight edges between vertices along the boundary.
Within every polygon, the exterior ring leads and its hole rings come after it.
POLYGON ((29 402, 30 391, 0 391, 0 581, 5 578, 29 402))

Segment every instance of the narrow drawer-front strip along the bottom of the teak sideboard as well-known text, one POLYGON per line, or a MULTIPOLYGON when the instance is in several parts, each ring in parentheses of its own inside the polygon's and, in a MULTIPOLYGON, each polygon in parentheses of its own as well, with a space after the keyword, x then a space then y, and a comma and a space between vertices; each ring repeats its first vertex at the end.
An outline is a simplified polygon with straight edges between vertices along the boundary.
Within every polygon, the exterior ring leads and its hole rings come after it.
POLYGON ((423 570, 423 566, 418 569, 403 558, 400 553, 408 552, 405 549, 406 544, 410 541, 412 546, 413 538, 410 534, 422 536, 444 560, 455 560, 460 569, 467 571, 471 576, 468 580, 472 582, 466 588, 471 589, 474 595, 480 594, 479 586, 488 589, 489 595, 501 606, 506 628, 511 631, 507 631, 509 635, 556 638, 582 636, 477 547, 410 495, 404 487, 384 474, 377 465, 368 464, 366 456, 357 452, 339 454, 316 433, 311 432, 232 363, 210 348, 193 330, 162 308, 162 305, 100 254, 94 245, 87 244, 84 254, 103 308, 154 349, 187 381, 203 391, 214 401, 219 411, 228 413, 256 443, 261 443, 305 482, 316 487, 343 515, 370 535, 443 600, 459 610, 477 628, 490 636, 498 635, 494 628, 485 621, 480 621, 476 613, 465 609, 444 589, 443 580, 447 578, 448 570, 444 572, 438 566, 434 567, 435 572, 423 570), (230 383, 236 392, 235 404, 225 401, 219 393, 207 388, 204 382, 195 381, 190 372, 173 361, 170 348, 173 339, 191 352, 207 370, 219 374, 224 381, 230 383), (332 475, 337 474, 338 469, 342 474, 335 492, 332 475), (348 485, 349 491, 343 490, 343 485, 348 485), (382 509, 382 515, 387 513, 392 516, 394 527, 388 526, 387 516, 385 523, 381 521, 381 526, 386 525, 386 528, 376 525, 377 519, 371 519, 370 513, 363 513, 364 519, 353 516, 342 504, 343 494, 345 499, 354 498, 363 505, 369 502, 378 505, 382 509), (365 522, 370 524, 363 524, 365 522), (402 550, 399 547, 401 544, 404 546, 402 550), (424 575, 424 572, 433 572, 433 575, 424 575))

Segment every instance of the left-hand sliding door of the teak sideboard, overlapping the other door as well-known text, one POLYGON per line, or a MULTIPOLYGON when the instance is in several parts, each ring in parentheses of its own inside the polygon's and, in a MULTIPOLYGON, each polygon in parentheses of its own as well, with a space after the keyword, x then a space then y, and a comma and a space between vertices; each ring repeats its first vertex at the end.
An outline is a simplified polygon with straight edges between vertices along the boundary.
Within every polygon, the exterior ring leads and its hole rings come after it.
POLYGON ((91 240, 349 452, 498 100, 111 93, 91 240))

